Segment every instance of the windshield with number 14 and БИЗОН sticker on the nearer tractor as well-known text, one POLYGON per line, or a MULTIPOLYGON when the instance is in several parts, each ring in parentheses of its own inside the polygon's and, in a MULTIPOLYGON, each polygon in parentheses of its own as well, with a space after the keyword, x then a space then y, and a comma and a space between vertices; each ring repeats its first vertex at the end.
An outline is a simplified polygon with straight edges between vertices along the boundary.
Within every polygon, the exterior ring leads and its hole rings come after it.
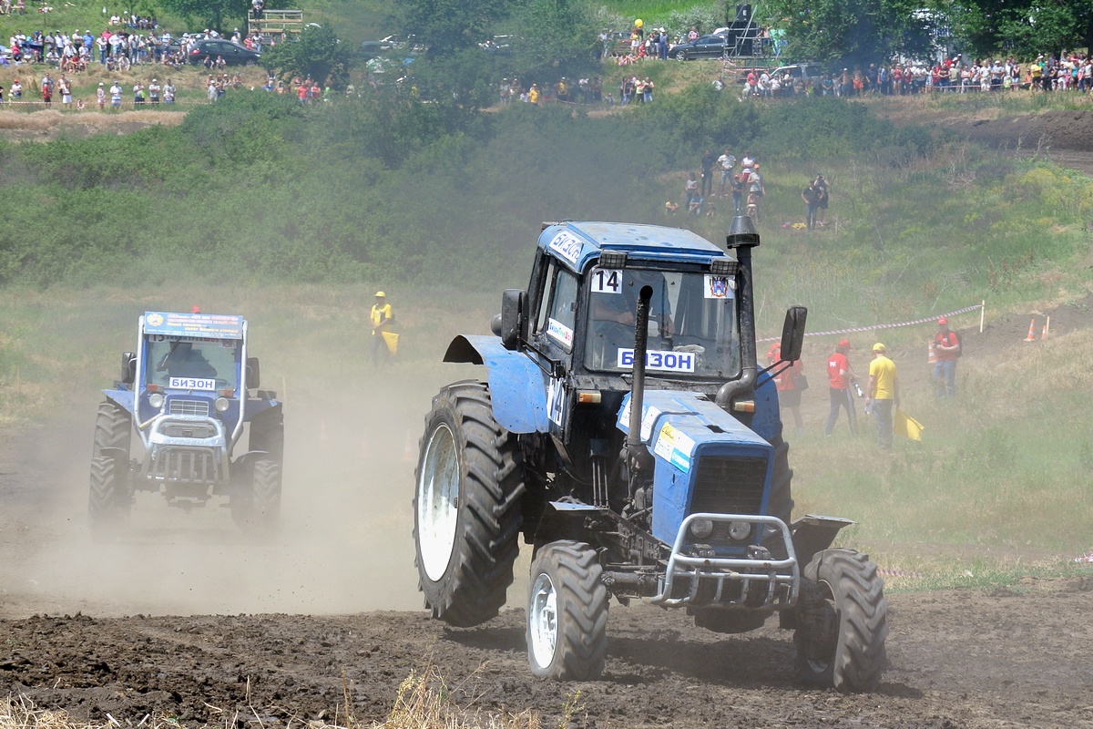
POLYGON ((731 379, 740 373, 736 281, 703 272, 592 269, 585 366, 634 368, 638 292, 653 289, 646 372, 650 376, 731 379))

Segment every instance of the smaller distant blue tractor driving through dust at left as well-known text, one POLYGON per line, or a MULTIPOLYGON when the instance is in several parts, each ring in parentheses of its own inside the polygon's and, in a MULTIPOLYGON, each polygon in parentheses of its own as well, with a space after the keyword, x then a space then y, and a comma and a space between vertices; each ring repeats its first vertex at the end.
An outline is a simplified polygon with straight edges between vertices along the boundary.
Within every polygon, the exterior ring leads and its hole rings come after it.
POLYGON ((284 421, 277 393, 258 385, 243 317, 197 307, 144 314, 137 351, 121 355, 121 378, 103 390, 95 419, 92 536, 109 538, 125 527, 137 491, 161 492, 181 508, 225 495, 244 531, 272 531, 281 508, 284 421), (249 448, 233 460, 245 423, 249 448), (141 449, 131 459, 134 431, 141 449))

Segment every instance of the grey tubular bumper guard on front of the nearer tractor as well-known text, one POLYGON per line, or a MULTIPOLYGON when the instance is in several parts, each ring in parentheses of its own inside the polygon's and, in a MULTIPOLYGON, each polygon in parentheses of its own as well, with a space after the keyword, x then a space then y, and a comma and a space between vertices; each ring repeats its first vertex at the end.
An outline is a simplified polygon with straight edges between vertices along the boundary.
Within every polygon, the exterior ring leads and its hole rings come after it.
POLYGON ((740 583, 740 599, 738 603, 760 608, 791 608, 797 603, 800 590, 801 571, 794 551, 794 538, 786 522, 774 516, 755 516, 742 514, 691 514, 680 525, 672 545, 668 568, 659 579, 659 591, 650 599, 654 604, 677 607, 696 602, 700 585, 704 581, 717 583, 714 602, 718 602, 725 592, 727 583, 740 583), (684 548, 694 541, 687 533, 691 525, 698 519, 714 522, 745 521, 751 525, 773 527, 785 542, 785 560, 763 560, 750 556, 741 557, 697 557, 683 553, 684 548), (678 578, 687 578, 691 589, 682 597, 671 597, 672 588, 678 578), (781 590, 779 588, 787 588, 781 590), (759 599, 755 590, 765 591, 762 604, 755 605, 759 599), (783 597, 785 595, 785 597, 783 597))

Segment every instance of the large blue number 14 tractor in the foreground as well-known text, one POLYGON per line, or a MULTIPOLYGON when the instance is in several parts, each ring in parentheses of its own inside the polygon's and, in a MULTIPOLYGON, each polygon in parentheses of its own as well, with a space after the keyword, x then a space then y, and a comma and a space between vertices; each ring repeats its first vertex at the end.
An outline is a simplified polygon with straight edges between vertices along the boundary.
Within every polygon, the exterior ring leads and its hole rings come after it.
MULTIPOLYGON (((888 604, 877 566, 828 549, 850 521, 790 522, 787 445, 755 354, 751 219, 728 252, 684 230, 544 224, 527 291, 494 336, 447 362, 484 364, 433 400, 416 470, 414 539, 433 615, 495 616, 522 532, 534 674, 603 671, 608 600, 681 607, 719 633, 792 628, 812 684, 873 690, 888 604)), ((791 307, 786 364, 807 311, 791 307)))

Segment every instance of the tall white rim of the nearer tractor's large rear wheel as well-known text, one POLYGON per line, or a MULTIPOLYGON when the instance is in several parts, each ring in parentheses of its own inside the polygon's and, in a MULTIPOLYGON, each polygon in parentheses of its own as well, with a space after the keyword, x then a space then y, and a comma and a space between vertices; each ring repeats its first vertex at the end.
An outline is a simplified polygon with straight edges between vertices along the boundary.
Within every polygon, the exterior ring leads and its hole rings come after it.
POLYGON ((418 478, 418 549, 434 583, 448 568, 458 521, 459 452, 451 428, 442 423, 428 436, 418 478))

